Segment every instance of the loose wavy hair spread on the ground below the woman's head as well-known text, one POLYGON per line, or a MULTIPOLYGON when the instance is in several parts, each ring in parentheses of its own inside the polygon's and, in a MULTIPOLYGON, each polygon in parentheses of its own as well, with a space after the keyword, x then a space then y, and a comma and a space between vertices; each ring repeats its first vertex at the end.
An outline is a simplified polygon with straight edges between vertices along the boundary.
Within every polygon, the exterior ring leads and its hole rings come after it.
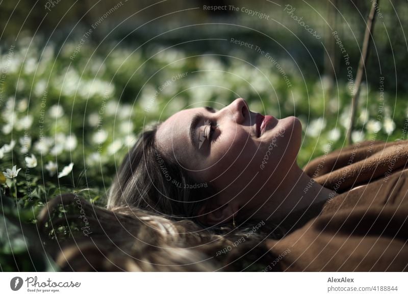
POLYGON ((37 225, 63 271, 258 271, 274 259, 264 239, 277 234, 268 224, 253 233, 252 225, 202 229, 137 207, 108 210, 77 194, 50 200, 37 225))

